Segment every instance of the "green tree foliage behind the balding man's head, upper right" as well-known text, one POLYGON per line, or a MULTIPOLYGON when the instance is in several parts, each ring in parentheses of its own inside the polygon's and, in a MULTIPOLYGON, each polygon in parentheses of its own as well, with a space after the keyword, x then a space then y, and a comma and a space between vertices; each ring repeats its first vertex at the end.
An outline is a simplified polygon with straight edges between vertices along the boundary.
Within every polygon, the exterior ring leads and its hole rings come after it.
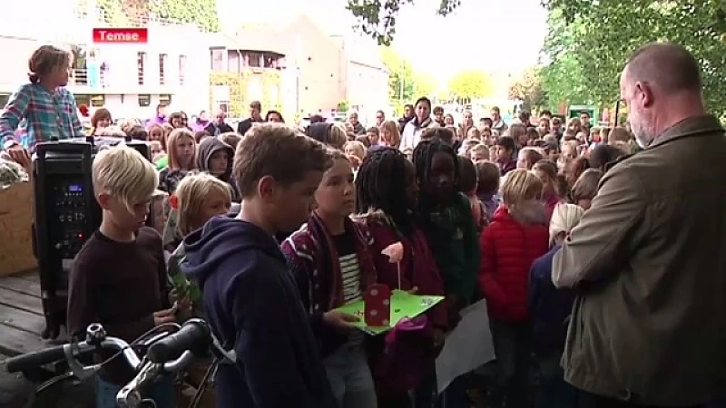
POLYGON ((726 112, 726 43, 721 41, 726 26, 719 23, 723 0, 550 0, 546 5, 551 33, 544 52, 559 64, 544 73, 553 101, 565 91, 558 94, 554 85, 568 86, 570 75, 568 94, 573 96, 568 99, 611 104, 619 97, 619 76, 629 55, 645 44, 671 41, 701 63, 711 112, 726 112), (561 38, 553 38, 554 33, 561 38))

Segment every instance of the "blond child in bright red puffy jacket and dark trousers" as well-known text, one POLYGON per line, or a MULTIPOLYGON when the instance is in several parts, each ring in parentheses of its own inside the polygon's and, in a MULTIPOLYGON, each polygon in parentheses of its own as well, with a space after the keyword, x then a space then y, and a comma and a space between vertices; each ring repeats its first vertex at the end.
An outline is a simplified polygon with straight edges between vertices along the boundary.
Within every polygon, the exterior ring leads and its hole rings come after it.
POLYGON ((542 181, 524 170, 511 171, 502 187, 504 205, 484 229, 479 285, 486 298, 499 376, 494 406, 525 407, 531 330, 527 314, 529 269, 548 250, 542 181))

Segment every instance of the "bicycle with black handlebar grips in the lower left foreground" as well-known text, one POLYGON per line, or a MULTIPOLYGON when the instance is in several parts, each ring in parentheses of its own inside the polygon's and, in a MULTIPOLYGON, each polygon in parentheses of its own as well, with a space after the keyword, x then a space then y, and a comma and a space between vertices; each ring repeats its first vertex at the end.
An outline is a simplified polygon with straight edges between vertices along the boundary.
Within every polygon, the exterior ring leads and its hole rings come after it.
MULTIPOLYGON (((93 324, 86 329, 85 341, 55 345, 43 350, 18 355, 6 360, 9 373, 26 373, 46 364, 54 364, 65 360, 68 371, 55 376, 38 388, 42 392, 51 384, 69 378, 83 380, 98 373, 104 364, 107 364, 119 355, 123 356, 135 373, 133 379, 125 384, 116 394, 116 403, 121 408, 156 407, 151 399, 142 397, 143 390, 148 388, 162 374, 176 374, 191 363, 194 357, 207 355, 210 348, 221 349, 221 346, 211 335, 209 325, 198 318, 188 320, 183 325, 175 323, 159 325, 134 340, 131 344, 120 338, 107 336, 103 325, 93 324), (133 350, 133 345, 147 346, 147 352, 140 357, 133 350), (88 355, 93 351, 107 350, 115 352, 112 357, 100 364, 83 365, 78 361, 81 355, 88 355)), ((221 351, 225 358, 234 358, 227 352, 221 351)), ((215 355, 220 355, 215 352, 215 355)), ((204 390, 200 390, 203 392, 204 390)), ((199 392, 198 392, 199 393, 199 392)), ((197 400, 197 396, 194 398, 197 400)), ((196 406, 192 401, 191 406, 196 406)))

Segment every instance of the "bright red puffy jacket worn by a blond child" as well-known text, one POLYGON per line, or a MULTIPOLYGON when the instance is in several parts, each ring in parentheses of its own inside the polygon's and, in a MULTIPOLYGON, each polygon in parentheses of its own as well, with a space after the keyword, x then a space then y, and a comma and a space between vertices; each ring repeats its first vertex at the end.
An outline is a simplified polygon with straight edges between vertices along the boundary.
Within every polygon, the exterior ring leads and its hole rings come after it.
POLYGON ((523 225, 505 206, 496 209, 479 240, 482 263, 479 285, 489 316, 505 322, 527 318, 529 268, 547 253, 549 232, 544 225, 523 225))

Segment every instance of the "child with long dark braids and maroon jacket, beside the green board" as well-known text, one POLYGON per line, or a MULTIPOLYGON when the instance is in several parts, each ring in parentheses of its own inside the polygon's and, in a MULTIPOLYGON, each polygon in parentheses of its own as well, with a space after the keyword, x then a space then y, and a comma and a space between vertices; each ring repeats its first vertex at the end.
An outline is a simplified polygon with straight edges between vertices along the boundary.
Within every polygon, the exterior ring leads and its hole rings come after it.
MULTIPOLYGON (((400 285, 401 290, 416 288, 418 294, 444 295, 436 261, 414 216, 418 194, 414 165, 395 148, 368 151, 358 169, 356 191, 360 214, 354 219, 364 224, 373 238, 370 253, 378 272, 378 282, 391 289, 400 285), (403 257, 400 262, 391 263, 383 250, 396 243, 402 245, 403 257)), ((406 368, 409 374, 417 375, 415 383, 421 384, 414 386, 415 406, 431 406, 432 388, 428 385, 432 378, 424 378, 424 375, 434 373, 437 347, 443 344, 448 328, 443 304, 430 309, 427 317, 434 328, 432 337, 422 338, 420 345, 407 347, 407 352, 417 354, 413 360, 419 364, 406 368)), ((401 378, 408 376, 387 375, 386 361, 382 358, 383 342, 374 342, 372 348, 371 368, 377 383, 378 407, 409 406, 408 384, 400 384, 401 378)))

